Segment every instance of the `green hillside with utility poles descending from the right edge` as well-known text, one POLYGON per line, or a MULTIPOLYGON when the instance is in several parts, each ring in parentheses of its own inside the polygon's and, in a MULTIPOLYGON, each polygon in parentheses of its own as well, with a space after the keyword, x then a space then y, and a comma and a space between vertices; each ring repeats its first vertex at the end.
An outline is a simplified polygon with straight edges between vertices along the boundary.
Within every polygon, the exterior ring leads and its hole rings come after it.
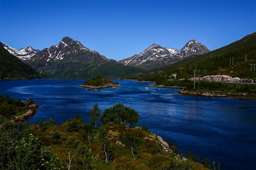
MULTIPOLYGON (((181 51, 181 50, 180 50, 181 51)), ((256 32, 249 34, 236 42, 201 55, 190 55, 176 63, 152 69, 146 73, 136 74, 129 79, 140 77, 145 81, 156 81, 166 75, 176 75, 176 79, 194 77, 194 69, 200 70, 201 76, 228 75, 241 79, 256 79, 254 66, 256 63, 256 32), (247 60, 245 61, 245 55, 247 60), (182 70, 181 70, 182 68, 182 70), (204 71, 202 71, 204 70, 204 71)))

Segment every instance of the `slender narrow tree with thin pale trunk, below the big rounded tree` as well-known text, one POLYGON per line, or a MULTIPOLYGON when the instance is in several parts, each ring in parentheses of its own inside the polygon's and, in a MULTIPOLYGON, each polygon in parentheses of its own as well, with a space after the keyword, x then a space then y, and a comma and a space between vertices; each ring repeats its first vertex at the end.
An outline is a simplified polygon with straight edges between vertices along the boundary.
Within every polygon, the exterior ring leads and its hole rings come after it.
POLYGON ((111 145, 108 138, 109 138, 108 131, 105 128, 100 127, 99 128, 98 139, 100 140, 100 144, 101 144, 102 149, 104 151, 105 158, 106 158, 106 163, 108 163, 108 160, 112 156, 112 151, 111 151, 112 145, 111 145))

